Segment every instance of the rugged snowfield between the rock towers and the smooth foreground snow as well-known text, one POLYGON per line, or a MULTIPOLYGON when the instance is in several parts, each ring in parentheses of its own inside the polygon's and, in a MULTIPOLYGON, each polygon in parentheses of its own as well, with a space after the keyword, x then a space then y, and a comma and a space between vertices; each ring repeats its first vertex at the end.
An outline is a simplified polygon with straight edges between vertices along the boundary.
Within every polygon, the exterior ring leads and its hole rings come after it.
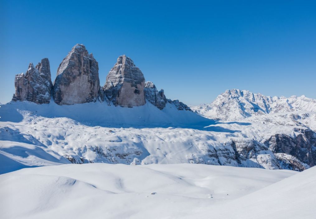
POLYGON ((265 142, 275 134, 293 139, 302 135, 307 127, 300 121, 316 124, 313 114, 293 120, 278 116, 269 117, 269 122, 256 117, 221 122, 179 111, 172 104, 159 110, 151 104, 122 108, 98 102, 63 106, 12 102, 3 105, 0 113, 0 174, 92 162, 303 170, 310 165, 293 155, 273 153, 265 142))

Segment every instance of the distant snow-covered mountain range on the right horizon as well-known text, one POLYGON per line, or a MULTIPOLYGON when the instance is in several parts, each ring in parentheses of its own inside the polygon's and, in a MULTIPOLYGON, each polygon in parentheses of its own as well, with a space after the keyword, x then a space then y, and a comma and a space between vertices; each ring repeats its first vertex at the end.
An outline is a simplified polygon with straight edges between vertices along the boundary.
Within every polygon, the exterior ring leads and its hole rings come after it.
POLYGON ((190 106, 198 114, 211 119, 228 121, 242 120, 253 115, 286 113, 296 111, 316 112, 316 100, 291 96, 269 97, 246 90, 226 90, 211 104, 190 106))

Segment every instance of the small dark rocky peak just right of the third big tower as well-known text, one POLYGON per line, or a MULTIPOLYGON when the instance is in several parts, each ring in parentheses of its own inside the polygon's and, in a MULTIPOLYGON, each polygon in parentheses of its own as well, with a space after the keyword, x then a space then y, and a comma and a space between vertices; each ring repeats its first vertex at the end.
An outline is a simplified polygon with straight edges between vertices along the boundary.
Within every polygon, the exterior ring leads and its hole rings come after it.
POLYGON ((146 100, 149 101, 149 103, 153 104, 160 110, 165 108, 167 99, 166 99, 166 96, 164 95, 164 91, 161 90, 158 92, 153 82, 147 81, 145 83, 144 92, 145 92, 145 98, 146 100))

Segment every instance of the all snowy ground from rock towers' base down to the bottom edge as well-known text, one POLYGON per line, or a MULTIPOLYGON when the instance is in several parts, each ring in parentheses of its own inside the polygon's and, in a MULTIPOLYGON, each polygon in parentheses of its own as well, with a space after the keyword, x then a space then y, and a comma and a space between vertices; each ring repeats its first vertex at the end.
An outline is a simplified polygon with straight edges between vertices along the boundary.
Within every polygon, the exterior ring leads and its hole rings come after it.
POLYGON ((296 128, 315 130, 313 112, 236 122, 169 104, 158 110, 151 104, 12 102, 1 106, 0 116, 0 218, 309 219, 316 214, 314 167, 301 173, 269 170, 274 168, 265 159, 274 156, 270 151, 241 164, 228 154, 231 139, 263 142, 275 133, 299 134, 296 128), (217 151, 216 159, 210 149, 217 151), (69 164, 70 157, 85 164, 69 164), (198 162, 213 165, 189 164, 198 162))

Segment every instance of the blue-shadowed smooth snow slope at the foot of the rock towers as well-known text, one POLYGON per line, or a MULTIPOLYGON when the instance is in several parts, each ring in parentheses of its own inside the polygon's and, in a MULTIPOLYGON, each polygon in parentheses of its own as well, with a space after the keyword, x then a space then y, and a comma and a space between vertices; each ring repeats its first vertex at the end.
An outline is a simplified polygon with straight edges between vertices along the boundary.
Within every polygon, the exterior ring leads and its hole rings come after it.
POLYGON ((166 104, 159 110, 147 103, 138 107, 115 107, 106 102, 85 103, 74 105, 35 104, 28 101, 14 102, 2 105, 0 121, 20 122, 27 112, 46 118, 67 117, 88 126, 106 127, 169 127, 200 126, 201 122, 209 121, 187 110, 177 110, 174 104, 166 104))

